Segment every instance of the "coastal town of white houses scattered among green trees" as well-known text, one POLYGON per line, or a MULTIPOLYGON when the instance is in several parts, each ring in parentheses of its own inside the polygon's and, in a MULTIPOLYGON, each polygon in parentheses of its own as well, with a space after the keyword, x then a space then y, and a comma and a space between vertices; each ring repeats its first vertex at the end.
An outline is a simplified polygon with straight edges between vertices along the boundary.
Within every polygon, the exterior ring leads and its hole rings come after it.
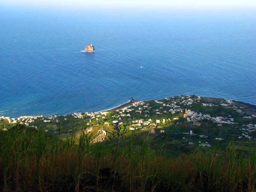
POLYGON ((189 139, 189 145, 208 147, 214 140, 227 140, 230 136, 238 140, 252 140, 256 136, 255 109, 229 99, 194 95, 152 101, 131 99, 131 102, 109 111, 66 116, 1 116, 0 121, 9 125, 19 123, 35 129, 43 128, 49 134, 61 134, 63 137, 74 131, 71 126, 77 127, 75 131, 79 134, 79 126, 85 122, 87 132, 95 132, 95 142, 102 142, 106 137, 120 139, 131 131, 164 136, 170 128, 174 139, 189 139), (57 131, 58 125, 62 126, 61 132, 57 131))

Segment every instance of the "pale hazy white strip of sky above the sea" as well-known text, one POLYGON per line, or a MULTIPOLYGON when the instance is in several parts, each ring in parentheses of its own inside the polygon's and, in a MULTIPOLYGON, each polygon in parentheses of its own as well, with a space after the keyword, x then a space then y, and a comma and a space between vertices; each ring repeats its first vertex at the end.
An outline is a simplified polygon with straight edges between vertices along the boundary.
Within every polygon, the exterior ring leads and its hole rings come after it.
POLYGON ((256 9, 256 0, 0 0, 2 7, 74 10, 256 9))

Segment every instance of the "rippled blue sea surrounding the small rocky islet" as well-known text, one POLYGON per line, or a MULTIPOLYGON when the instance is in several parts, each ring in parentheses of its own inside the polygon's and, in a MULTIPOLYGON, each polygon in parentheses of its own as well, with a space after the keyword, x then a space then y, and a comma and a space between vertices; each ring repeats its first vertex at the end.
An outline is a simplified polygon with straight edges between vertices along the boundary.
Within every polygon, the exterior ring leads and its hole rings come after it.
POLYGON ((192 94, 256 105, 256 15, 1 12, 0 116, 192 94))

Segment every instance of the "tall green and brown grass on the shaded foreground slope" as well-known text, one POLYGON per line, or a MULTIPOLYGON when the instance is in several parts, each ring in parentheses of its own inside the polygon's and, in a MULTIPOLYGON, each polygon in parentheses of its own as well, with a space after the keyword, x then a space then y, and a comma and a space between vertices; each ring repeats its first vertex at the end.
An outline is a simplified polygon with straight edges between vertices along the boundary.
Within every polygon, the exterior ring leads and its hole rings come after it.
POLYGON ((65 140, 29 128, 0 131, 0 191, 256 191, 255 151, 243 157, 230 143, 221 153, 167 158, 164 145, 151 151, 133 135, 91 143, 84 129, 65 140))

